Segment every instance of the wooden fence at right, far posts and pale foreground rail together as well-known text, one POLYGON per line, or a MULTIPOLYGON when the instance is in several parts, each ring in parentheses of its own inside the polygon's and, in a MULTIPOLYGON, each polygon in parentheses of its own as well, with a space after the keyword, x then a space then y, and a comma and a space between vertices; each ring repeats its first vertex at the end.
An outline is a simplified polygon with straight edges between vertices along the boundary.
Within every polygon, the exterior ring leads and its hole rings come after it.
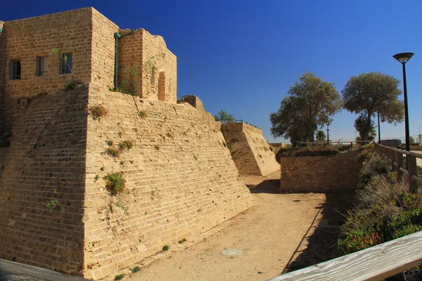
MULTIPOLYGON (((407 174, 409 191, 416 192, 421 178, 416 175, 416 158, 422 155, 375 144, 377 154, 388 157, 393 171, 398 176, 407 174), (403 167, 403 155, 407 156, 407 167, 403 167)), ((291 273, 279 275, 269 281, 285 280, 383 280, 422 263, 422 231, 385 242, 353 254, 318 263, 291 273)))

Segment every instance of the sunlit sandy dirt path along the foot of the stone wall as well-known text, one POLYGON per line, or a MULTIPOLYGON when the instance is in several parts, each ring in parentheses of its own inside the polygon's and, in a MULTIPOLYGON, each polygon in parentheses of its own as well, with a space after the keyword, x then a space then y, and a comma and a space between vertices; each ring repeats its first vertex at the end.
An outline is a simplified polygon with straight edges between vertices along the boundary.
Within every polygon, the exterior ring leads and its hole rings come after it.
POLYGON ((279 275, 326 200, 324 194, 276 194, 280 172, 243 180, 255 206, 169 251, 124 280, 266 280, 279 275), (272 191, 271 191, 272 190, 272 191), (224 256, 239 249, 241 256, 224 256))

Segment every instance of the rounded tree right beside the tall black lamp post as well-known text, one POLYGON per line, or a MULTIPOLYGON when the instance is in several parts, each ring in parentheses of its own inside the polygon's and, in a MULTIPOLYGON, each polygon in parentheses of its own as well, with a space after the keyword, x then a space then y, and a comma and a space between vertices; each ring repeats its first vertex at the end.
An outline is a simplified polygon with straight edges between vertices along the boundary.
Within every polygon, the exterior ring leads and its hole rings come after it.
POLYGON ((344 107, 359 114, 359 121, 356 122, 359 123, 358 131, 363 141, 369 140, 369 133, 373 128, 371 117, 375 117, 377 113, 381 122, 397 124, 403 121, 404 104, 398 99, 402 93, 397 88, 398 85, 399 80, 381 72, 362 73, 347 81, 342 91, 344 107))

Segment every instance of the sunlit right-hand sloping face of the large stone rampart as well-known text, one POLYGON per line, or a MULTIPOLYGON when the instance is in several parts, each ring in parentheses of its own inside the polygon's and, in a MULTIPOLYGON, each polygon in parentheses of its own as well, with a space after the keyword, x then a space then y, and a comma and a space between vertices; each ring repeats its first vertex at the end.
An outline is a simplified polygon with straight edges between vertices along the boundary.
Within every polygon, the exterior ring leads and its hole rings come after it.
POLYGON ((100 104, 108 115, 88 120, 87 277, 133 266, 163 245, 212 228, 252 205, 209 113, 186 103, 90 91, 89 106, 100 104), (133 148, 111 157, 108 141, 115 148, 131 141, 133 148), (120 198, 104 188, 103 177, 112 172, 122 172, 126 181, 120 198))

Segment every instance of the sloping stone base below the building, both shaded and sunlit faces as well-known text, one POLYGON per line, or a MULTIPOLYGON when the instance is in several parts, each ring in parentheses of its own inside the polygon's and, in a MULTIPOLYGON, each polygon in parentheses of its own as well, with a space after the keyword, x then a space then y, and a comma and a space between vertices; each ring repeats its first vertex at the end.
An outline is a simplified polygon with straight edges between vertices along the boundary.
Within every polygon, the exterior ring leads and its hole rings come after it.
POLYGON ((98 280, 252 204, 209 113, 78 86, 32 100, 15 124, 0 181, 0 256, 98 280), (95 105, 108 115, 88 115, 95 105), (111 157, 108 141, 134 147, 111 157), (126 181, 120 196, 105 188, 112 172, 126 181))

